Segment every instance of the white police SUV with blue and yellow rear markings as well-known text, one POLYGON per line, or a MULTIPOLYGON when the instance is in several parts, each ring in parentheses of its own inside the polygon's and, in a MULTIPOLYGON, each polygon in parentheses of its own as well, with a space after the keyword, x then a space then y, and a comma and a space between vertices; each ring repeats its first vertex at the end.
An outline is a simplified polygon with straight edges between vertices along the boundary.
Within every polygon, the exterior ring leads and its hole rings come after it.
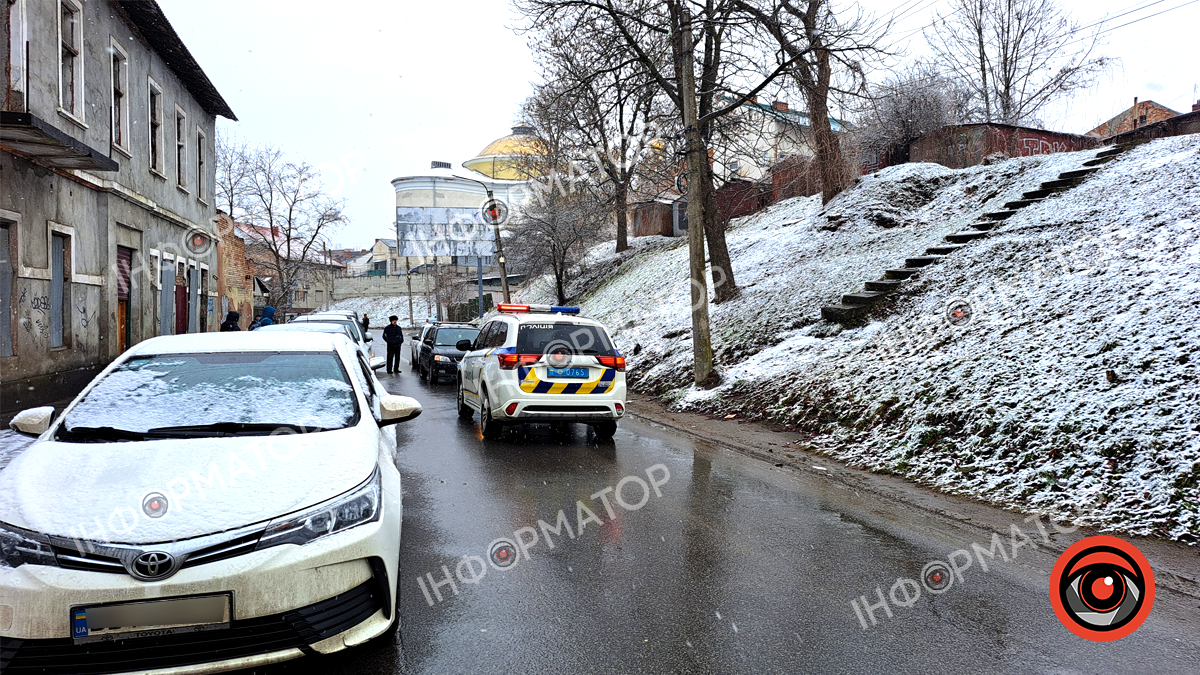
POLYGON ((510 305, 488 321, 458 369, 458 414, 485 438, 510 424, 578 422, 612 438, 625 414, 625 357, 578 307, 510 305))

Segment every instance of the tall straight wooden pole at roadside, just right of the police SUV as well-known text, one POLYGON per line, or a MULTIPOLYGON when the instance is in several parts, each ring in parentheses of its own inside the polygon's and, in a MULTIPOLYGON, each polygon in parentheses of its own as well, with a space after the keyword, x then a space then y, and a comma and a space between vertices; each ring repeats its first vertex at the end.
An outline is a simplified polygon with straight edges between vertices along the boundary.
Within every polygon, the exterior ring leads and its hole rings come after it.
POLYGON ((679 100, 683 108, 688 175, 696 187, 688 190, 688 262, 691 277, 692 377, 703 384, 713 375, 713 342, 708 333, 708 281, 704 275, 704 195, 698 185, 706 175, 708 153, 700 133, 696 114, 696 73, 694 70, 691 12, 679 10, 679 34, 676 61, 679 68, 679 100))

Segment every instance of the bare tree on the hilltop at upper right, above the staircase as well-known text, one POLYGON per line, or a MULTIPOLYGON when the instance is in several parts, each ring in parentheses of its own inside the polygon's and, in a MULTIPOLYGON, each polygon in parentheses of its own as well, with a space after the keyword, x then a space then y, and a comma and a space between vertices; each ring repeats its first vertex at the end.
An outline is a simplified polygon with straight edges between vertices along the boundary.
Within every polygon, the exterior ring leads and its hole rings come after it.
POLYGON ((1048 104, 1112 61, 1092 55, 1097 34, 1078 37, 1055 0, 952 0, 936 17, 925 40, 980 106, 966 121, 1037 125, 1048 104))

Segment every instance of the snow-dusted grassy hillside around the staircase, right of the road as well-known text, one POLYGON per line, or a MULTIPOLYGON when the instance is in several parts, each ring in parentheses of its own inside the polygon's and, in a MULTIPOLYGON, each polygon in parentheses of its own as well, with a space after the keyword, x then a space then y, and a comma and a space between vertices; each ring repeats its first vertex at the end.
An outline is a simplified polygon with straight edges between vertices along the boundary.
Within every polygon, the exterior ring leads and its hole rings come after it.
POLYGON ((824 209, 798 198, 736 221, 742 293, 712 306, 712 390, 689 386, 684 241, 655 238, 619 267, 593 252, 616 273, 589 279, 580 303, 630 356, 631 382, 679 407, 779 420, 814 449, 950 492, 1195 543, 1200 137, 1135 148, 1021 210, 862 327, 820 319, 821 305, 1094 154, 904 165, 824 209), (968 323, 946 319, 955 301, 968 323))

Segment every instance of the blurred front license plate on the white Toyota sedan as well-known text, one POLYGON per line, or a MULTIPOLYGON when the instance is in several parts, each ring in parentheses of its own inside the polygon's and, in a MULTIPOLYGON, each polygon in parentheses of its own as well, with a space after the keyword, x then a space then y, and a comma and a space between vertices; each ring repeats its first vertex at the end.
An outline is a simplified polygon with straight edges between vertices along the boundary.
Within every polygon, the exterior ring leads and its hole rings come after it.
POLYGON ((156 638, 229 627, 229 593, 71 608, 76 644, 156 638))

